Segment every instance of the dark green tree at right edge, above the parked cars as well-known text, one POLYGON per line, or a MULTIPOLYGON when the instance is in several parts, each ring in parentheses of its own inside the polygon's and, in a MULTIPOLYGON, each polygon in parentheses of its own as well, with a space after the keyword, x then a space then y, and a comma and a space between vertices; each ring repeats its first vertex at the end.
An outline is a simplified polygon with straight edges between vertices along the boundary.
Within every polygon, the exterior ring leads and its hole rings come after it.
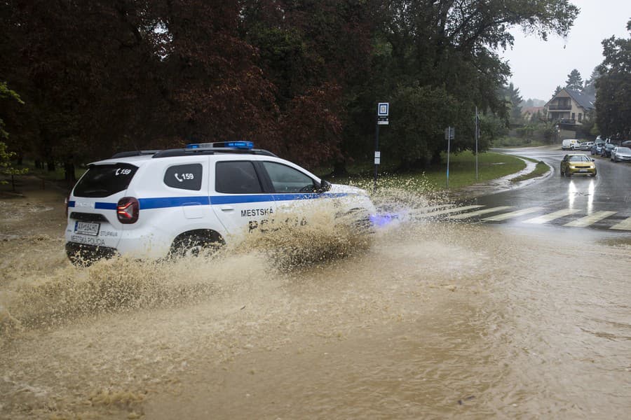
POLYGON ((629 38, 602 41, 604 60, 596 80, 597 125, 607 137, 631 137, 631 20, 629 38))

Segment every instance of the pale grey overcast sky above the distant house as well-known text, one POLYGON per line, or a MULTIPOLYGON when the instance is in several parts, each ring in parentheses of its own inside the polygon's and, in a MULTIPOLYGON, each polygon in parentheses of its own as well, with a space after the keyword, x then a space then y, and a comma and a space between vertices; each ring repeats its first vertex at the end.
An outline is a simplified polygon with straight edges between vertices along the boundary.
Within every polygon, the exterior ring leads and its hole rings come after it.
POLYGON ((566 39, 556 35, 541 41, 513 29, 513 50, 501 53, 508 60, 513 77, 510 81, 525 99, 552 97, 557 85, 563 87, 572 69, 589 78, 594 67, 602 63, 602 40, 611 36, 627 38, 627 21, 631 19, 630 0, 572 0, 581 8, 566 39))

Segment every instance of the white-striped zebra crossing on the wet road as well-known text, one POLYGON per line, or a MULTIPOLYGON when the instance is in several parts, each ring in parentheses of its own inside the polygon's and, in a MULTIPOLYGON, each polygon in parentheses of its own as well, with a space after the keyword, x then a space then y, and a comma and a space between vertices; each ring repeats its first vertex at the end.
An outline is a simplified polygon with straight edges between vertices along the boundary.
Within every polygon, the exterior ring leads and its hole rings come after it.
POLYGON ((456 207, 455 205, 445 205, 440 207, 434 206, 414 209, 414 211, 409 212, 409 216, 412 216, 412 218, 437 218, 438 216, 445 216, 445 219, 452 221, 464 221, 467 219, 478 218, 478 220, 482 222, 501 222, 520 218, 522 216, 543 213, 536 217, 522 220, 520 223, 544 225, 545 223, 555 223, 555 221, 559 221, 559 219, 565 218, 564 221, 566 221, 566 218, 568 217, 576 217, 572 221, 567 223, 561 222, 559 224, 571 228, 588 228, 601 221, 605 221, 606 223, 606 219, 611 218, 611 225, 609 226, 609 229, 631 231, 631 217, 622 218, 622 220, 620 220, 619 217, 612 217, 618 213, 617 211, 595 211, 581 217, 581 213, 585 213, 581 209, 561 209, 557 211, 550 211, 550 213, 546 213, 547 209, 544 207, 528 207, 526 209, 517 210, 512 209, 512 206, 486 207, 484 205, 468 205, 456 207))

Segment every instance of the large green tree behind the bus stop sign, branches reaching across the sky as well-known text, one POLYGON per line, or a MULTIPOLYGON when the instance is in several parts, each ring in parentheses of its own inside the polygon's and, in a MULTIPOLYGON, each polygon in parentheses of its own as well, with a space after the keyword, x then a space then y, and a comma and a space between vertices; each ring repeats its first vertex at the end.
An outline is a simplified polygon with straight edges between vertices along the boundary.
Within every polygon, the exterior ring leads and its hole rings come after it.
MULTIPOLYGON (((455 104, 449 125, 456 127, 455 151, 473 148, 475 106, 483 112, 508 120, 508 107, 498 89, 506 85, 510 68, 496 54, 510 48, 510 27, 547 38, 550 32, 566 34, 578 14, 569 1, 429 1, 395 0, 380 9, 381 31, 376 36, 376 62, 384 70, 376 73, 376 92, 416 92, 416 113, 430 112, 436 94, 446 104, 455 104), (418 90, 416 89, 418 86, 418 90), (424 99, 423 99, 424 98, 424 99)), ((409 94, 404 97, 410 97, 409 94)), ((374 104, 379 99, 374 98, 374 104)), ((384 99, 381 99, 384 100, 384 99)), ((384 130, 390 153, 408 159, 407 144, 393 129, 398 111, 391 107, 391 128, 384 130)), ((484 132, 482 137, 484 137, 484 132)), ((489 135, 491 133, 489 132, 489 135)), ((426 155, 409 155, 413 162, 436 162, 445 150, 442 129, 427 134, 426 155)))

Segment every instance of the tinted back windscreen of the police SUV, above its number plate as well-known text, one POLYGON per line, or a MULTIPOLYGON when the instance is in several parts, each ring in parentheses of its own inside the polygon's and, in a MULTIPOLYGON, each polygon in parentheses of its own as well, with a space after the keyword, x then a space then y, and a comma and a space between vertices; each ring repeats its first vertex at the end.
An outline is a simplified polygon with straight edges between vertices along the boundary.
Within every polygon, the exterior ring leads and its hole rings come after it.
POLYGON ((74 187, 76 197, 108 197, 126 190, 138 167, 126 163, 92 165, 74 187))

